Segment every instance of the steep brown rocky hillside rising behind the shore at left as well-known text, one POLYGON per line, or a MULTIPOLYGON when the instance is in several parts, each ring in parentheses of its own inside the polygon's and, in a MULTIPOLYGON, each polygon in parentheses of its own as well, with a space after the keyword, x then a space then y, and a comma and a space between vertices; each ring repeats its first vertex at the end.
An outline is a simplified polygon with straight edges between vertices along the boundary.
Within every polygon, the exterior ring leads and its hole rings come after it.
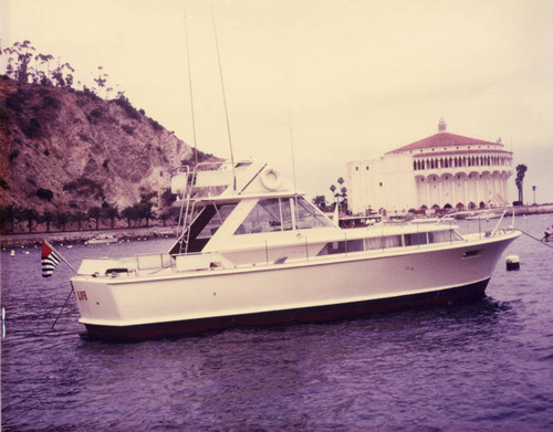
POLYGON ((171 169, 192 161, 192 151, 125 97, 0 76, 1 207, 121 212, 150 196, 160 211, 171 169))

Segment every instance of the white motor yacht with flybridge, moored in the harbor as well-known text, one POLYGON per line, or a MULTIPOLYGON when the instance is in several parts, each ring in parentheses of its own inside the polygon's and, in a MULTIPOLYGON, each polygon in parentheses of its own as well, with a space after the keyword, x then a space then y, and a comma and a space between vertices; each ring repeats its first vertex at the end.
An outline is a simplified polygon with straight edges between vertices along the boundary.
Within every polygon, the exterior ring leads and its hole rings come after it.
POLYGON ((181 230, 170 251, 86 259, 72 278, 88 334, 152 338, 479 297, 520 235, 461 235, 452 222, 343 230, 262 162, 184 167, 171 189, 181 230))

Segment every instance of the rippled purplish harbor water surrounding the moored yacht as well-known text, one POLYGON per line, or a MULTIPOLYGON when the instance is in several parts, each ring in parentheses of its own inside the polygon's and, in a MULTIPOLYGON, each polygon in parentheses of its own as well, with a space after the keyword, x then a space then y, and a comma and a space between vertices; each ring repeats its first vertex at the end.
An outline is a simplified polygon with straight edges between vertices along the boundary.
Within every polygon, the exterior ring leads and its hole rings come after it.
MULTIPOLYGON (((515 221, 536 238, 552 224, 553 214, 515 221)), ((77 266, 170 244, 55 246, 77 266)), ((10 252, 2 431, 553 430, 553 250, 528 235, 504 252, 483 299, 133 344, 83 337, 74 298, 52 330, 71 270, 42 278, 40 249, 10 252), (520 271, 505 270, 511 254, 520 271)))

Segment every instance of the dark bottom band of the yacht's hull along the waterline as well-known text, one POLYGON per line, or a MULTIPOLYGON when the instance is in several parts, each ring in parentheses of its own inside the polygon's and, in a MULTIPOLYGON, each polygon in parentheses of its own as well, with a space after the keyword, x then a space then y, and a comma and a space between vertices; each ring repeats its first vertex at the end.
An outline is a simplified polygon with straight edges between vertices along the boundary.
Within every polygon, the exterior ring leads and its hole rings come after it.
POLYGON ((482 298, 484 296, 488 282, 489 280, 484 280, 455 288, 403 295, 393 298, 352 302, 326 306, 301 307, 286 310, 271 310, 243 315, 229 315, 131 326, 85 324, 85 327, 88 336, 92 338, 101 338, 105 340, 140 340, 168 336, 196 335, 207 331, 223 330, 232 327, 327 323, 420 306, 432 306, 459 301, 482 298))

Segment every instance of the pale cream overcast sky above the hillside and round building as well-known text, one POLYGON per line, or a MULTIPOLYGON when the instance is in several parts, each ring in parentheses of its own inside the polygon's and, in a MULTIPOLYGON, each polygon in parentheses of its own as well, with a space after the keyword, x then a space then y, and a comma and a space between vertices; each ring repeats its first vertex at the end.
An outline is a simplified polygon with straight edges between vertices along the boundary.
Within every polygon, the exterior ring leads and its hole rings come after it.
POLYGON ((229 158, 230 130, 236 160, 295 171, 311 197, 444 117, 501 138, 528 166, 524 201, 536 186, 553 202, 551 0, 4 0, 0 38, 30 40, 87 86, 102 66, 112 97, 190 145, 194 105, 200 150, 229 158))

